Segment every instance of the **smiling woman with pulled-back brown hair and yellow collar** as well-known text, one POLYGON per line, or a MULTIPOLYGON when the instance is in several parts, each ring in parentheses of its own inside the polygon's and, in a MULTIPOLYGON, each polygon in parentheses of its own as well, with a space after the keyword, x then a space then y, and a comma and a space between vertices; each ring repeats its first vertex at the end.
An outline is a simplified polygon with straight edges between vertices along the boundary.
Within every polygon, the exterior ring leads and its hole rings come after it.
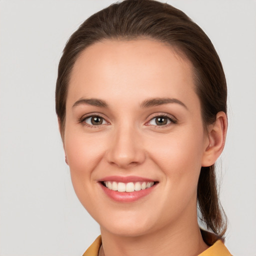
POLYGON ((183 12, 125 0, 89 17, 63 50, 56 113, 74 190, 100 225, 84 255, 230 255, 214 173, 225 76, 183 12))

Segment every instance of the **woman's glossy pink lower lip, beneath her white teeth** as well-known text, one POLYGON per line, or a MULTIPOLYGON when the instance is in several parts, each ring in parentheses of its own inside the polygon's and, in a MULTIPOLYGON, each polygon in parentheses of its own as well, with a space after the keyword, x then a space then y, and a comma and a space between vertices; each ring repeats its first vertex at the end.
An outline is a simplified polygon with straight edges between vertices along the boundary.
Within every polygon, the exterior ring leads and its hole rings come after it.
POLYGON ((136 200, 138 200, 138 199, 148 195, 155 188, 155 184, 154 184, 154 185, 152 185, 149 188, 141 189, 139 191, 118 192, 118 191, 114 191, 114 190, 108 189, 107 187, 105 187, 100 182, 99 182, 99 184, 100 184, 102 190, 104 191, 104 193, 108 197, 110 197, 114 201, 118 201, 118 202, 133 202, 133 201, 136 201, 136 200))

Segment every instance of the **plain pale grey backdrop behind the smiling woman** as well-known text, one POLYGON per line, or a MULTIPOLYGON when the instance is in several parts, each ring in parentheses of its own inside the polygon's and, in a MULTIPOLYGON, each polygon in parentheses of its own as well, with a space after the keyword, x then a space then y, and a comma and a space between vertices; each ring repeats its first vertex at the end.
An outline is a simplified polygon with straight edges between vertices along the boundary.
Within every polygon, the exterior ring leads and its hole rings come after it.
MULTIPOLYGON (((112 0, 0 0, 0 256, 81 255, 99 234, 76 198, 54 112, 70 34, 112 0)), ((168 0, 212 40, 229 127, 218 162, 226 246, 256 255, 256 2, 168 0)))

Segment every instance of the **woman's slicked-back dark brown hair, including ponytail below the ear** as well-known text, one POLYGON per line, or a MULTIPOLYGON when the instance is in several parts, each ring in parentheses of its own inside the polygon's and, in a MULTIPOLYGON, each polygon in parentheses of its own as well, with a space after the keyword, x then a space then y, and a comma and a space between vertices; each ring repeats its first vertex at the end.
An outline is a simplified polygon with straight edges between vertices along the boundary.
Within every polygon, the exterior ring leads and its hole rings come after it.
MULTIPOLYGON (((79 54, 103 39, 130 40, 139 37, 164 42, 191 61, 205 126, 215 121, 218 111, 226 113, 225 75, 219 57, 202 29, 185 13, 167 3, 124 0, 91 15, 70 36, 64 47, 55 91, 62 138, 68 81, 79 54)), ((226 218, 218 199, 214 165, 201 167, 197 203, 207 228, 222 237, 226 230, 226 218)))

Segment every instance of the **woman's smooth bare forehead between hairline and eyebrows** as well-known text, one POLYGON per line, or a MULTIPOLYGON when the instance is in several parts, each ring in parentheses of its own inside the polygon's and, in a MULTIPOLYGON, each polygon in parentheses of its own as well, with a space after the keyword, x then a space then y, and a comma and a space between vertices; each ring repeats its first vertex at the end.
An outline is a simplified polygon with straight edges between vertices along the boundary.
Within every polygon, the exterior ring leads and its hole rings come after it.
POLYGON ((183 92, 189 96, 195 91, 192 65, 174 48, 155 40, 96 42, 74 63, 68 99, 110 96, 109 91, 113 97, 127 98, 169 93, 180 97, 183 92))

